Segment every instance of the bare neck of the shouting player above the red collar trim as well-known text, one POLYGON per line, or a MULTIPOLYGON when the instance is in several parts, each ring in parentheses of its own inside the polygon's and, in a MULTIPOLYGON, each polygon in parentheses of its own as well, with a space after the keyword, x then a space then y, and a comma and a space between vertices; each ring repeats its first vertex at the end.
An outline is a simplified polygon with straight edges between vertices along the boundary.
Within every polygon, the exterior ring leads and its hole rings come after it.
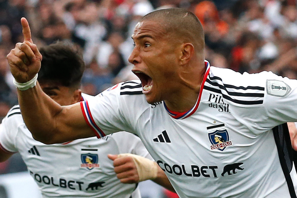
POLYGON ((171 111, 182 113, 192 109, 196 104, 201 83, 206 72, 204 60, 203 66, 199 66, 198 68, 196 71, 187 70, 187 72, 181 72, 181 86, 178 89, 179 91, 172 94, 170 99, 164 100, 166 106, 171 111))

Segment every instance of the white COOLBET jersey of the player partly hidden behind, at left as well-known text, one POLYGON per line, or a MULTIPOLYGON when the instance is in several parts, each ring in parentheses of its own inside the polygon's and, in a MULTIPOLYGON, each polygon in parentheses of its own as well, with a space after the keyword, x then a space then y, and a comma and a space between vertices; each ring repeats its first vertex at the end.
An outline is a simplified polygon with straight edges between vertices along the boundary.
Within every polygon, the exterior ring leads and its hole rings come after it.
POLYGON ((127 132, 45 145, 32 138, 18 105, 2 120, 0 148, 20 153, 45 198, 140 198, 137 184, 124 184, 116 177, 107 154, 133 153, 152 159, 140 139, 127 132))

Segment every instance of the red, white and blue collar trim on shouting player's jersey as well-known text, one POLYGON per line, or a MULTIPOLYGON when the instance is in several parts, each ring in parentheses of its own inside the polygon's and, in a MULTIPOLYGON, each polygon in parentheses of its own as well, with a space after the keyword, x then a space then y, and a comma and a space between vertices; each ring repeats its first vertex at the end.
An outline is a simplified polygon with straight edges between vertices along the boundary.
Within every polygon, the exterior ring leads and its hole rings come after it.
POLYGON ((199 91, 198 99, 197 99, 196 104, 194 105, 194 107, 192 107, 192 109, 190 109, 187 112, 183 112, 183 113, 174 112, 174 111, 169 110, 168 107, 166 106, 165 102, 163 102, 164 107, 165 107, 165 110, 167 111, 167 113, 172 118, 177 119, 177 120, 181 120, 181 119, 187 118, 190 115, 192 115, 193 113, 195 113, 195 111, 198 109, 198 106, 199 106, 199 103, 200 103, 200 99, 201 99, 201 95, 202 95, 202 90, 203 90, 203 87, 204 87, 204 83, 206 81, 206 78, 207 78, 207 75, 209 74, 209 69, 210 69, 210 64, 209 64, 208 61, 204 60, 204 64, 205 64, 205 67, 206 67, 206 72, 204 74, 203 81, 202 81, 201 86, 200 86, 200 91, 199 91))

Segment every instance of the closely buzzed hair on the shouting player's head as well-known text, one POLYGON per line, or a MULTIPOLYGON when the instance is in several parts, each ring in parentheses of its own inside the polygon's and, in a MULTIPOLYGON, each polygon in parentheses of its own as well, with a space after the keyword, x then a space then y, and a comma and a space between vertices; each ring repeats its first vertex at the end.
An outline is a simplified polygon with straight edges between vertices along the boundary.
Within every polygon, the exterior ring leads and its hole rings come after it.
POLYGON ((190 42, 198 52, 204 50, 204 31, 200 20, 187 9, 159 9, 145 15, 140 22, 153 20, 162 23, 166 33, 175 34, 182 42, 190 42))

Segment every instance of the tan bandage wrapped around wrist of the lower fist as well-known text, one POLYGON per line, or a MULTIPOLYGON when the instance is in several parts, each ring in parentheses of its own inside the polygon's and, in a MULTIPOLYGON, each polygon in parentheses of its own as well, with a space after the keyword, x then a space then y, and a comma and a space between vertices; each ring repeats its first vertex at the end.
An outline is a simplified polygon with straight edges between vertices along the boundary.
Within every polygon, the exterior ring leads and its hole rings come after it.
POLYGON ((155 161, 151 161, 145 157, 134 155, 131 153, 119 154, 119 157, 132 157, 137 169, 139 181, 155 179, 158 174, 158 164, 155 161))

